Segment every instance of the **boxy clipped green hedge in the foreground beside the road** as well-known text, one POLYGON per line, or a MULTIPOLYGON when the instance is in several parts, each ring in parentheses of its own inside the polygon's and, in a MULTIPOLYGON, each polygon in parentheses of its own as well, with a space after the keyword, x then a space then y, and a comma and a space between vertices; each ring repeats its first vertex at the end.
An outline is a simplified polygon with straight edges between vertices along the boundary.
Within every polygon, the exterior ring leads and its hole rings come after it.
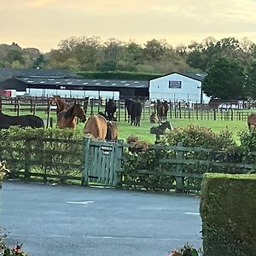
POLYGON ((256 255, 256 175, 207 173, 201 193, 204 255, 256 255))

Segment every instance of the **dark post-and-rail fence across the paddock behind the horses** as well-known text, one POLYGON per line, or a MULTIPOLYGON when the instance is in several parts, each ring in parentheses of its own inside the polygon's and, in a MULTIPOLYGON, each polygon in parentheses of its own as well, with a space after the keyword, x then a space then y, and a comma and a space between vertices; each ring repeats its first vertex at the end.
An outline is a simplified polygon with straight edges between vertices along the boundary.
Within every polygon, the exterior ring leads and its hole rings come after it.
MULTIPOLYGON (((104 112, 106 100, 103 99, 74 99, 67 98, 67 102, 78 100, 84 104, 84 111, 87 115, 93 113, 104 112)), ((16 115, 20 113, 32 113, 46 115, 46 126, 50 125, 49 118, 55 119, 55 111, 50 106, 49 98, 44 97, 17 97, 14 99, 1 99, 0 97, 0 113, 12 112, 16 115)), ((149 120, 151 113, 155 113, 156 102, 142 102, 143 113, 142 119, 149 120)), ((126 111, 124 100, 116 101, 117 111, 115 117, 118 121, 126 121, 126 111)), ((206 104, 186 104, 184 102, 168 102, 169 111, 167 113, 168 119, 201 119, 201 120, 239 120, 246 121, 247 116, 252 111, 241 109, 218 109, 210 108, 206 104)))

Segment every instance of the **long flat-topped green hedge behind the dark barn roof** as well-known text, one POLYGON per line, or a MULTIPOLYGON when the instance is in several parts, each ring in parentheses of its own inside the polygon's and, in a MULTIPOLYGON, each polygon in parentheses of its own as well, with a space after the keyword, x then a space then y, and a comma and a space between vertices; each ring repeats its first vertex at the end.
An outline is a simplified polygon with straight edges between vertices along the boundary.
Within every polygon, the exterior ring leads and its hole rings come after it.
POLYGON ((133 73, 133 72, 77 72, 84 79, 127 79, 127 80, 149 80, 155 79, 162 74, 158 73, 133 73))

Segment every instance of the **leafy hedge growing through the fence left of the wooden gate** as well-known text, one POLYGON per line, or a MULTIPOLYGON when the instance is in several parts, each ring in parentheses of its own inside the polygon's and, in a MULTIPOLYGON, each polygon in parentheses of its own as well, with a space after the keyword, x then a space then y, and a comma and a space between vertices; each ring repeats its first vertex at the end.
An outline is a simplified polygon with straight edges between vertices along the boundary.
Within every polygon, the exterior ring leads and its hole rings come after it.
POLYGON ((17 171, 54 174, 65 181, 77 175, 84 163, 80 131, 68 129, 19 129, 0 131, 0 160, 17 171))

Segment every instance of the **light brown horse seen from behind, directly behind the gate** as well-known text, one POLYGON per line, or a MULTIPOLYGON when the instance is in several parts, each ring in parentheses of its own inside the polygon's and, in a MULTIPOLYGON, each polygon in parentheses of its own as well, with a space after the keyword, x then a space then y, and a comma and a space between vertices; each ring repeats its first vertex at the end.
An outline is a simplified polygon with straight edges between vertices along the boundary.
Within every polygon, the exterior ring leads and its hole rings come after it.
POLYGON ((107 119, 101 114, 90 116, 84 125, 84 134, 90 133, 93 137, 104 140, 107 136, 107 119))

